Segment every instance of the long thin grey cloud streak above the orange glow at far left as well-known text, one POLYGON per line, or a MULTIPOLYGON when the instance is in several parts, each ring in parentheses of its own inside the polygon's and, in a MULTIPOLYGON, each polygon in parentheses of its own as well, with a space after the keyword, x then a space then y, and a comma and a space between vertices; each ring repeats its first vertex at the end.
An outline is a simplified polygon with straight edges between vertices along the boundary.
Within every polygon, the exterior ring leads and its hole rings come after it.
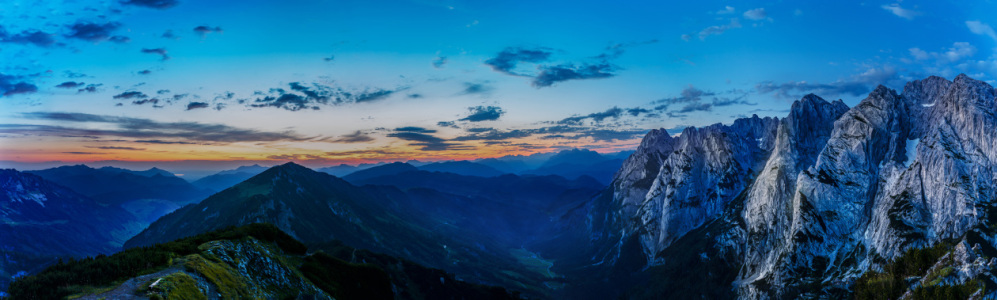
POLYGON ((37 136, 114 136, 140 140, 183 140, 189 142, 239 143, 308 141, 292 131, 272 132, 245 129, 222 124, 197 122, 158 122, 150 119, 93 115, 85 113, 31 112, 23 113, 28 119, 60 121, 67 123, 101 123, 114 126, 108 129, 88 129, 80 124, 73 126, 0 124, 0 133, 37 136))

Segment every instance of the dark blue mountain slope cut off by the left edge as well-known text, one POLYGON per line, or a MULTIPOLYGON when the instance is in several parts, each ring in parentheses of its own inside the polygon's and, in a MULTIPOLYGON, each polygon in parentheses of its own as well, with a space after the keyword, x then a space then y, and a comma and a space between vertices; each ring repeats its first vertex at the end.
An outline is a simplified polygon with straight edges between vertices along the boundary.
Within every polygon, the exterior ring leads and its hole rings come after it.
POLYGON ((113 253, 142 225, 37 175, 0 170, 0 291, 12 275, 35 272, 56 256, 113 253))

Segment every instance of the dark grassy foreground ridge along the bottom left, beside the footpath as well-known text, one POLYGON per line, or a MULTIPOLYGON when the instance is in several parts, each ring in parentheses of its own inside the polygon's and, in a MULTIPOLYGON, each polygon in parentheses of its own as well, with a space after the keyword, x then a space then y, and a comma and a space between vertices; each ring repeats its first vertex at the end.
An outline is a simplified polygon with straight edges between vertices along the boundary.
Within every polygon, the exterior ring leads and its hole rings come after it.
MULTIPOLYGON (((246 298, 250 296, 247 294, 247 282, 244 282, 246 279, 234 276, 237 272, 231 270, 229 265, 203 256, 204 250, 199 246, 211 241, 249 237, 276 245, 288 255, 276 259, 285 263, 293 261, 291 265, 300 271, 298 276, 338 299, 392 299, 393 284, 401 285, 400 296, 409 299, 518 298, 503 288, 462 282, 442 270, 353 249, 341 243, 322 247, 323 250, 331 250, 332 254, 317 252, 304 256, 308 250, 304 244, 270 224, 230 227, 169 243, 132 248, 111 256, 59 262, 41 273, 18 278, 11 283, 9 295, 11 299, 64 299, 71 295, 106 290, 130 278, 182 265, 216 286, 223 298, 246 298), (359 261, 367 263, 347 262, 350 257, 360 257, 359 261)), ((167 275, 153 292, 167 299, 199 298, 200 291, 192 285, 193 280, 188 279, 189 276, 182 272, 167 275)))

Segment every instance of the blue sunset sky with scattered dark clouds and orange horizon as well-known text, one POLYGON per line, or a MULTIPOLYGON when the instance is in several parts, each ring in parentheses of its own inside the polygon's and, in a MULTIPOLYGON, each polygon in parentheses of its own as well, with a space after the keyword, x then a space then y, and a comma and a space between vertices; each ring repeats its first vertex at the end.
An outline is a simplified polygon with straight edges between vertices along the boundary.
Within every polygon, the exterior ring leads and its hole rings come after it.
MULTIPOLYGON (((40 2, 40 3, 39 3, 40 2)), ((438 161, 633 150, 814 93, 994 83, 991 1, 0 4, 0 161, 438 161), (625 4, 621 4, 625 3, 625 4)))

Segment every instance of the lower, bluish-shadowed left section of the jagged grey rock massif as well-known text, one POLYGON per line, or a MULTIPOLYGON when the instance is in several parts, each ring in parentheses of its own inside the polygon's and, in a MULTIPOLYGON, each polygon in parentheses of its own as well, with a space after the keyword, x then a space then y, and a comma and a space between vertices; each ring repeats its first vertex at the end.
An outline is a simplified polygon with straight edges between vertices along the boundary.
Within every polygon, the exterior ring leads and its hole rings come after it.
POLYGON ((778 122, 754 116, 730 126, 686 128, 677 138, 652 130, 613 180, 623 235, 639 235, 653 260, 675 239, 715 219, 772 150, 778 122))

